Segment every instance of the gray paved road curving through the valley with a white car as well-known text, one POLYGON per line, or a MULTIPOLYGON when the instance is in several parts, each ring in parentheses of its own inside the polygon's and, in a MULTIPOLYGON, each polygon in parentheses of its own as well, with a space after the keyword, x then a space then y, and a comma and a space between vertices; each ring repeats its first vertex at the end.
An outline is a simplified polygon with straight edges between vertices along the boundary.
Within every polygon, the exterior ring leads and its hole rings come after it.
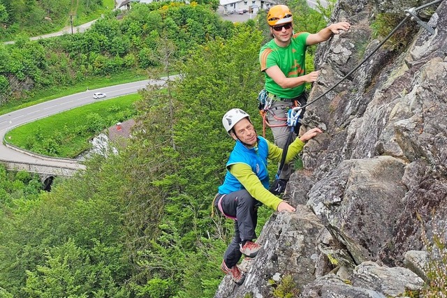
POLYGON ((3 138, 6 132, 10 131, 15 126, 20 126, 37 119, 48 117, 52 114, 71 110, 74 107, 80 107, 81 105, 87 105, 94 103, 98 100, 93 98, 95 92, 104 92, 107 94, 105 100, 108 98, 114 98, 125 94, 136 93, 139 89, 145 88, 147 84, 161 85, 165 83, 166 77, 162 77, 161 80, 143 80, 139 82, 132 82, 127 84, 120 84, 111 87, 104 87, 101 89, 94 89, 84 91, 78 94, 70 96, 64 96, 54 100, 47 101, 45 103, 39 103, 31 107, 25 107, 22 110, 10 112, 0 116, 0 161, 10 161, 15 163, 31 163, 34 165, 45 165, 54 167, 66 167, 71 169, 84 168, 78 163, 78 161, 64 158, 45 158, 45 156, 38 156, 36 154, 27 154, 24 152, 10 149, 3 144, 3 138))

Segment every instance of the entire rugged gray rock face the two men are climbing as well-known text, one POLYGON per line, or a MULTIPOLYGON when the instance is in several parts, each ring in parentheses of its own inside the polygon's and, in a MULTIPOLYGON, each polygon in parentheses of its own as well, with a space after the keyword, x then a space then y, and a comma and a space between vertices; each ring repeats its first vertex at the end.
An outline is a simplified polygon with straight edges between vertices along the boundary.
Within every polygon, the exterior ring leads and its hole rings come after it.
MULTIPOLYGON (((373 38, 372 16, 400 21, 420 5, 340 0, 330 22, 352 26, 318 46, 309 101, 383 40, 373 38)), ((279 297, 286 283, 291 297, 402 297, 422 287, 428 254, 415 251, 430 248, 433 235, 447 239, 447 3, 431 8, 433 35, 408 19, 400 40, 307 107, 302 130, 324 133, 308 142, 305 169, 288 183, 297 212, 270 218, 261 253, 243 262, 245 283, 227 277, 216 297, 279 297)))

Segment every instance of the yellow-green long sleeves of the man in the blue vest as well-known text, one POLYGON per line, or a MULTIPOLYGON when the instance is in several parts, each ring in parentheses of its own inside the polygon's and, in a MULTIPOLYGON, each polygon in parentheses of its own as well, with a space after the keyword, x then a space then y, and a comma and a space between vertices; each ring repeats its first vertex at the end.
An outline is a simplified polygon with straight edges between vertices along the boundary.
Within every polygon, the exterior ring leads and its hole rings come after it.
MULTIPOLYGON (((268 140, 268 159, 279 163, 281 161, 282 149, 276 145, 270 143, 268 140)), ((287 156, 285 163, 289 163, 292 159, 302 151, 305 143, 298 137, 290 144, 287 149, 287 156)), ((282 202, 276 195, 270 193, 268 189, 265 189, 261 180, 258 179, 256 174, 251 170, 251 167, 246 163, 235 163, 230 165, 229 169, 231 174, 240 181, 250 195, 256 200, 265 204, 274 210, 277 210, 279 203, 282 202)))

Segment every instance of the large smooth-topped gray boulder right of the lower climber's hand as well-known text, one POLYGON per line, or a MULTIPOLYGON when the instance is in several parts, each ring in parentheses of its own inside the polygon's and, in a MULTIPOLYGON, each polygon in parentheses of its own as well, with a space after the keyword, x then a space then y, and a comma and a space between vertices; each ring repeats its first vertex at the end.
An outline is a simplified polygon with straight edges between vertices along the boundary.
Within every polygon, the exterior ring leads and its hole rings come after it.
POLYGON ((356 264, 376 258, 392 237, 389 210, 403 207, 403 174, 404 163, 390 156, 344 161, 309 191, 307 204, 356 264))

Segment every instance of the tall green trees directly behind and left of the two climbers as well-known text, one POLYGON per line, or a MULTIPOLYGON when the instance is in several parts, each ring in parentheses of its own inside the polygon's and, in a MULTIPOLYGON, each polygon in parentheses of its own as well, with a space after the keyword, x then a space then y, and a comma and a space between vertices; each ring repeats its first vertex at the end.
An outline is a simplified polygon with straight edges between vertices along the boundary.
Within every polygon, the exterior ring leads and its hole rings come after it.
POLYGON ((147 173, 141 176, 156 177, 151 188, 159 189, 165 208, 160 234, 145 244, 140 241, 144 253, 135 251, 135 244, 127 249, 140 266, 133 279, 137 292, 152 281, 175 285, 174 297, 212 297, 220 282, 219 264, 233 234, 230 221, 210 218, 233 146, 221 117, 231 107, 241 107, 256 125, 261 123, 254 101, 263 87, 258 71, 262 37, 254 27, 236 29, 234 38, 217 38, 191 52, 176 67, 183 80, 170 82, 164 91, 154 87, 142 92, 132 152, 150 165, 149 171, 141 169, 147 173))

